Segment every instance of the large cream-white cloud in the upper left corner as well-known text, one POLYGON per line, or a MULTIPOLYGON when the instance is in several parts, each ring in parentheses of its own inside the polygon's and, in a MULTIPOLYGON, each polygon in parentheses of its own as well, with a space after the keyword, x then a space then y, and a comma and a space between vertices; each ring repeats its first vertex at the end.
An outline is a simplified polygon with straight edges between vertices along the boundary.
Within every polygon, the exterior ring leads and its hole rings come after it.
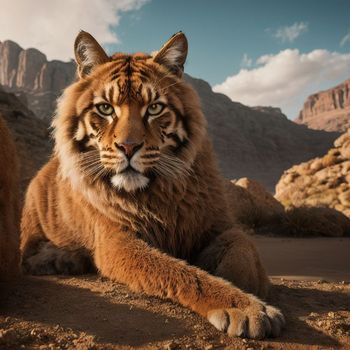
POLYGON ((100 43, 118 43, 112 31, 122 12, 148 0, 0 0, 0 40, 35 47, 49 59, 73 57, 74 38, 83 29, 100 43))

